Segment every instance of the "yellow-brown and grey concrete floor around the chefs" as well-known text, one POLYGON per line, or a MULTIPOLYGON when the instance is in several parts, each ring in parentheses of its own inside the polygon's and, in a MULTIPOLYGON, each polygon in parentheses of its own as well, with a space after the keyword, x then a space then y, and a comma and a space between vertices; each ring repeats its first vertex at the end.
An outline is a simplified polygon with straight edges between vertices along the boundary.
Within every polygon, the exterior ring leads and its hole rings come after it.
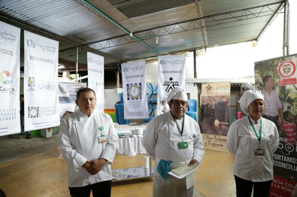
MULTIPOLYGON (((67 165, 51 138, 0 138, 0 188, 7 197, 68 197, 67 165)), ((116 155, 112 169, 143 166, 143 154, 116 155)), ((195 197, 236 196, 230 153, 206 149, 195 171, 195 197), (203 194, 203 195, 201 195, 203 194)), ((152 196, 153 178, 113 182, 111 196, 152 196)), ((166 196, 166 194, 164 194, 166 196)))

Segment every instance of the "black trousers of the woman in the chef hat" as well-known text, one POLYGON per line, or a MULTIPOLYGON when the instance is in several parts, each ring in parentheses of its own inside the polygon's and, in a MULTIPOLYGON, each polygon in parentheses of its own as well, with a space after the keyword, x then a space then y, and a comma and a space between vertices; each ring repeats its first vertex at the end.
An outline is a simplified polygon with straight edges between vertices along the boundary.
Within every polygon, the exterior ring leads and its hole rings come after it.
POLYGON ((248 180, 244 180, 234 175, 235 183, 236 183, 236 196, 237 197, 251 197, 252 188, 254 185, 254 195, 253 197, 268 197, 269 190, 272 183, 270 181, 263 182, 252 182, 248 180))

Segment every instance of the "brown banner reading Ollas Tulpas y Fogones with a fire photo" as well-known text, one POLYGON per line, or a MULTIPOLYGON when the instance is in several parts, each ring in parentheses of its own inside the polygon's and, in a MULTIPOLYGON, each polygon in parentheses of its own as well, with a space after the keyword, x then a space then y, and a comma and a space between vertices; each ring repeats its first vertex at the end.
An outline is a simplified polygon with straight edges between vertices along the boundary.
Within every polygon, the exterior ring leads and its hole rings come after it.
POLYGON ((200 132, 206 148, 227 150, 230 82, 202 83, 200 132))

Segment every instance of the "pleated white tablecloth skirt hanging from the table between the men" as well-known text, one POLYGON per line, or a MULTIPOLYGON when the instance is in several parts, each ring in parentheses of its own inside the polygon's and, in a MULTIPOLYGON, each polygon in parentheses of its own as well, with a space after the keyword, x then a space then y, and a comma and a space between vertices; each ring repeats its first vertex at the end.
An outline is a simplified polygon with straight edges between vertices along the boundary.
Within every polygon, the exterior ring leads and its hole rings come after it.
POLYGON ((134 137, 120 138, 119 146, 116 148, 117 155, 134 156, 136 154, 146 154, 146 149, 142 146, 142 135, 134 135, 134 137))

